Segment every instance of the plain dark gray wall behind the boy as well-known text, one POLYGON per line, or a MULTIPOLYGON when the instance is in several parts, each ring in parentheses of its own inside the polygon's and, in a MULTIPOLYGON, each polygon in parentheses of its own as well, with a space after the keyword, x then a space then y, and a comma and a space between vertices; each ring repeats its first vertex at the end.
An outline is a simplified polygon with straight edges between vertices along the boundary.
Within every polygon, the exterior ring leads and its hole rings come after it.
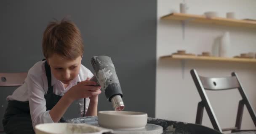
MULTIPOLYGON (((43 30, 53 18, 71 16, 85 42, 83 64, 112 57, 125 111, 155 116, 156 0, 1 0, 0 72, 26 72, 43 58, 43 30)), ((0 115, 13 88, 0 88, 0 115), (3 106, 3 107, 2 107, 3 106)), ((77 116, 72 105, 66 117, 77 116)), ((99 111, 112 110, 102 93, 99 111)))

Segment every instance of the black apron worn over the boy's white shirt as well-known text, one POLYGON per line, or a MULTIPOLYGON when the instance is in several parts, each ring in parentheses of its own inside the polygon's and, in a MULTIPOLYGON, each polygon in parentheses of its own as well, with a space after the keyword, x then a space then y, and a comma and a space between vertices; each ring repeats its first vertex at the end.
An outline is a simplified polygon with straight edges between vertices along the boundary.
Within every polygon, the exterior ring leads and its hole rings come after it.
MULTIPOLYGON (((46 111, 51 110, 61 99, 61 96, 53 94, 53 86, 51 86, 51 69, 45 61, 45 72, 48 81, 48 91, 46 93, 46 111)), ((61 118, 59 122, 65 122, 61 118)), ((6 134, 35 134, 30 111, 29 102, 25 101, 8 101, 3 119, 4 131, 6 134)))

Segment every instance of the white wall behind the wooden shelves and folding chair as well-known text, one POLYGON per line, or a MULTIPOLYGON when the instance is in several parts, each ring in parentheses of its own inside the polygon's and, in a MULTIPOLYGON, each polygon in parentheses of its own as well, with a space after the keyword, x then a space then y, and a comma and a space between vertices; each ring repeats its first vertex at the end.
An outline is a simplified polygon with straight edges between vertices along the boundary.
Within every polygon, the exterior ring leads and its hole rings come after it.
MULTIPOLYGON (((230 32, 232 56, 243 52, 256 52, 256 28, 239 28, 209 24, 189 23, 182 40, 181 23, 172 20, 160 20, 171 10, 179 12, 179 3, 183 0, 157 0, 157 79, 156 79, 156 118, 195 123, 197 103, 201 100, 189 73, 196 69, 200 75, 221 77, 237 72, 245 92, 256 111, 256 64, 234 62, 212 62, 186 60, 184 79, 181 75, 181 61, 159 60, 160 56, 185 49, 187 52, 200 54, 210 51, 214 39, 224 31, 230 32)), ((203 14, 205 11, 217 11, 221 17, 233 11, 236 18, 256 19, 256 0, 186 0, 188 13, 203 14)), ((235 126, 238 101, 241 99, 237 90, 208 92, 208 97, 215 110, 222 128, 235 126)), ((203 125, 212 127, 206 111, 203 125)), ((242 129, 255 129, 245 108, 242 129)))

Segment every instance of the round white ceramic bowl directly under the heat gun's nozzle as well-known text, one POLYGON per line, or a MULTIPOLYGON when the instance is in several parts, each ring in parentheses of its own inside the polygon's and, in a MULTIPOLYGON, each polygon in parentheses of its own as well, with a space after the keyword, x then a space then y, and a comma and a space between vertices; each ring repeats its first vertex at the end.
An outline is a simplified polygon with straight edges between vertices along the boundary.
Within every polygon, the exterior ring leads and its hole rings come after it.
POLYGON ((131 111, 99 111, 98 123, 108 129, 139 129, 147 124, 147 113, 131 111))

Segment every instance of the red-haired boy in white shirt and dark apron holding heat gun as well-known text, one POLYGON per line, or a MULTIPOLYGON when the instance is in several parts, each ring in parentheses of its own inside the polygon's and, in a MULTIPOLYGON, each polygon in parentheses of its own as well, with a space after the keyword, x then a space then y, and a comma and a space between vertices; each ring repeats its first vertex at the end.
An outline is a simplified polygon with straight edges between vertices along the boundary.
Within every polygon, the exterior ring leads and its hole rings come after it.
POLYGON ((97 116, 101 87, 89 81, 93 74, 81 65, 83 40, 77 26, 71 21, 49 23, 42 46, 46 60, 30 68, 24 84, 7 97, 7 134, 34 134, 36 124, 62 121, 75 100, 80 101, 82 114, 83 98, 85 116, 97 116))

